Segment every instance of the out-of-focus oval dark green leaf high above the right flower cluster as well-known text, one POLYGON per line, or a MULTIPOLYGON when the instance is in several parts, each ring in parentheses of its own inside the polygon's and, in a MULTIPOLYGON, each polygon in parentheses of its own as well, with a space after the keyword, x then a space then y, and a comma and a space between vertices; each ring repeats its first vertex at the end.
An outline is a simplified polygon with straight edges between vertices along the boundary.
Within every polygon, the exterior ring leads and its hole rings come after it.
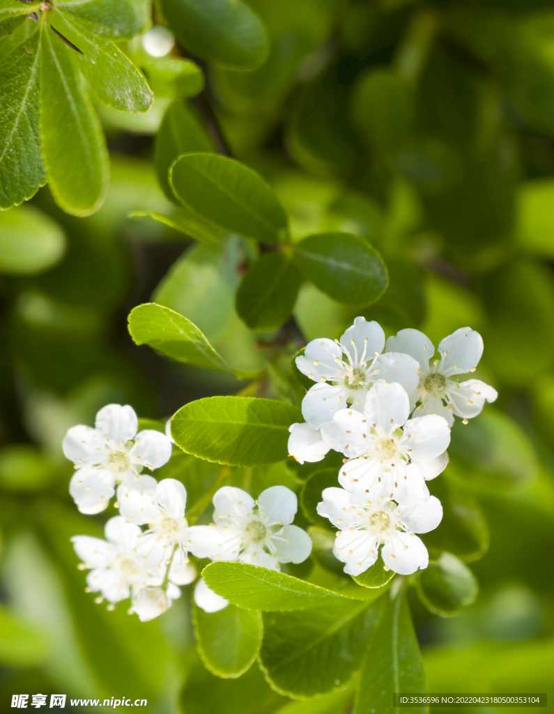
POLYGON ((413 130, 415 102, 406 79, 389 69, 369 69, 358 79, 353 121, 376 151, 401 149, 413 130))

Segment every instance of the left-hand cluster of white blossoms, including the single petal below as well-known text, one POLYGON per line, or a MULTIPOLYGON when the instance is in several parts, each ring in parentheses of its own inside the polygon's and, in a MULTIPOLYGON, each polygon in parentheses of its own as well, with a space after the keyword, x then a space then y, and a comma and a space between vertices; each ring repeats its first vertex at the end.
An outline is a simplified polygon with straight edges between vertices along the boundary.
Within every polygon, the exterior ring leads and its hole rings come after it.
MULTIPOLYGON (((196 579, 188 555, 211 560, 239 560, 278 570, 280 563, 301 563, 311 553, 308 534, 292 522, 296 495, 272 486, 257 501, 240 488, 224 486, 213 496, 213 523, 189 526, 186 489, 180 481, 156 481, 153 471, 171 457, 171 439, 153 430, 137 434, 138 419, 130 406, 109 404, 96 415, 94 428, 74 426, 63 442, 76 471, 69 486, 81 513, 99 513, 117 488, 119 516, 107 521, 106 540, 89 535, 71 538, 89 569, 89 592, 100 593, 109 609, 131 599, 130 613, 151 620, 181 594, 179 585, 196 579)), ((200 578, 196 603, 214 612, 227 605, 200 578)))

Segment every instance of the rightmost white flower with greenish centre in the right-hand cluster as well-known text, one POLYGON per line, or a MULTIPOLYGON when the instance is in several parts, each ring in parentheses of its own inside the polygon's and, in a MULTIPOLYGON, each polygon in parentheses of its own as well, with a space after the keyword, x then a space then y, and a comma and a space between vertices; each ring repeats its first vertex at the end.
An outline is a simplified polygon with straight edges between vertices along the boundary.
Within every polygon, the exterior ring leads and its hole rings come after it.
POLYGON ((475 372, 483 354, 483 338, 469 327, 462 327, 445 337, 438 346, 440 358, 434 359, 435 346, 420 332, 408 328, 387 340, 387 351, 404 352, 419 362, 419 383, 408 389, 411 408, 419 402, 421 415, 440 414, 448 426, 454 415, 470 419, 480 414, 485 401, 493 402, 498 392, 479 379, 458 382, 455 377, 475 372))

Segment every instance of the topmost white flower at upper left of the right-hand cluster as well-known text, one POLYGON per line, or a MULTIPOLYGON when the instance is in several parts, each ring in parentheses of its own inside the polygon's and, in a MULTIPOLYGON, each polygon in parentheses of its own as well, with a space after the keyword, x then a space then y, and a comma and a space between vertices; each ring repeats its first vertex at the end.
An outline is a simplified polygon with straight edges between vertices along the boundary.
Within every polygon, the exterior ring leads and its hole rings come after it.
POLYGON ((340 341, 312 340, 296 366, 318 382, 302 401, 302 414, 313 428, 331 421, 348 406, 363 411, 371 384, 378 379, 398 382, 408 392, 418 385, 419 365, 407 354, 381 354, 385 333, 376 322, 357 317, 340 341))

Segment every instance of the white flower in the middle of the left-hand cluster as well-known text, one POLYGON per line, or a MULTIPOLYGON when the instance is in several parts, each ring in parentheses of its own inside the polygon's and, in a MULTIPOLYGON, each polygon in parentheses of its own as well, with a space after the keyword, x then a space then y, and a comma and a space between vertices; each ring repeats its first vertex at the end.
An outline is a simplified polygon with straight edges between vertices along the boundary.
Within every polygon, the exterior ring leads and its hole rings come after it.
POLYGON ((160 483, 151 477, 144 491, 129 489, 124 483, 117 490, 121 515, 139 526, 148 523, 139 540, 139 553, 150 560, 171 565, 169 580, 187 585, 196 578, 196 570, 188 564, 188 551, 206 558, 216 548, 219 537, 210 526, 188 526, 185 518, 186 489, 175 478, 160 483), (156 555, 155 555, 156 554, 156 555))

